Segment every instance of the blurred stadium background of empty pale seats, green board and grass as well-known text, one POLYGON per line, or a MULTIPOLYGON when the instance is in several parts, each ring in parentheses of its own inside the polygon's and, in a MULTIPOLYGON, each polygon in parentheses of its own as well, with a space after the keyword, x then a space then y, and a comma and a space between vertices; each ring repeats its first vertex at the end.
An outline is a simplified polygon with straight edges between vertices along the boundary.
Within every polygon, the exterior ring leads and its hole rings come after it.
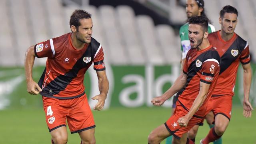
MULTIPOLYGON (((256 106, 256 0, 204 0, 208 18, 220 29, 220 9, 238 9, 235 32, 248 41, 253 78, 250 100, 256 106)), ((150 100, 166 91, 179 75, 180 38, 186 22, 186 0, 0 0, 0 144, 50 143, 42 97, 26 92, 24 55, 38 42, 70 32, 75 9, 92 14, 92 36, 104 48, 110 90, 103 112, 94 112, 99 144, 142 144, 153 128, 170 116, 172 100, 152 107, 150 100)), ((38 81, 46 59, 36 58, 33 77, 38 81)), ((255 115, 242 117, 243 75, 237 74, 232 120, 224 144, 256 143, 255 115), (247 141, 246 141, 247 140, 247 141)), ((85 78, 88 98, 98 94, 93 69, 85 78)), ((89 100, 90 106, 95 102, 89 100)), ((197 140, 208 133, 199 130, 197 140)), ((69 135, 68 143, 79 143, 69 135)))

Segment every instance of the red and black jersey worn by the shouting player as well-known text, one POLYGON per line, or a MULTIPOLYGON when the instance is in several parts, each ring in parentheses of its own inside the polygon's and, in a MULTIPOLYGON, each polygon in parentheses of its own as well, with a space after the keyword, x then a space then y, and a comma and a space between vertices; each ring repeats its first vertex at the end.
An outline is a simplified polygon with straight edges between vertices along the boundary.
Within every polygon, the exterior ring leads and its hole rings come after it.
POLYGON ((178 93, 178 100, 183 108, 188 111, 190 110, 194 100, 198 96, 200 82, 211 84, 206 100, 195 113, 195 116, 203 117, 206 115, 206 107, 220 71, 219 64, 220 56, 211 45, 204 50, 197 51, 191 48, 188 51, 183 67, 184 74, 188 75, 187 81, 185 87, 178 93))

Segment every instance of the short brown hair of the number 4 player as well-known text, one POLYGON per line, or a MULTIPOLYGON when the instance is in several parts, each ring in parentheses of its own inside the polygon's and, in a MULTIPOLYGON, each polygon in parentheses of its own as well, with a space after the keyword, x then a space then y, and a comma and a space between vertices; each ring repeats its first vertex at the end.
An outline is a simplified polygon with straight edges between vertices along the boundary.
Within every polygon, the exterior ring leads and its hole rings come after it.
POLYGON ((70 16, 70 27, 73 25, 76 28, 78 28, 78 26, 81 25, 79 20, 83 18, 92 18, 92 15, 89 12, 86 12, 85 10, 75 10, 73 14, 70 16))

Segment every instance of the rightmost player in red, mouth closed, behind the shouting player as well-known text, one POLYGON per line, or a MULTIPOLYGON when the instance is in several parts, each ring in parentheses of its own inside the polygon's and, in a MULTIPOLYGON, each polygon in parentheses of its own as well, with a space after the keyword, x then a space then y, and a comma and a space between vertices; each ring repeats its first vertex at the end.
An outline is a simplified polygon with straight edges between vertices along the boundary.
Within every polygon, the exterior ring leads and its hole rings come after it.
POLYGON ((233 6, 224 6, 220 11, 219 23, 221 30, 208 36, 210 44, 221 57, 220 75, 212 93, 212 111, 215 126, 208 135, 201 140, 201 144, 208 144, 220 138, 231 118, 232 97, 239 61, 244 69, 244 116, 252 115, 252 105, 249 101, 252 70, 250 66, 250 51, 248 42, 234 32, 237 24, 238 11, 233 6))

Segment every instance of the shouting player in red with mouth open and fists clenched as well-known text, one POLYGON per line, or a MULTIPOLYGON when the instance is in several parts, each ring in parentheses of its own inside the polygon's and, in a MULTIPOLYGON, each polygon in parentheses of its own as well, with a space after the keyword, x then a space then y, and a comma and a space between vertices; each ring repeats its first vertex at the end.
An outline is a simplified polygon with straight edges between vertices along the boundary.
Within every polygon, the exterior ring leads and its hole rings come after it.
POLYGON ((207 38, 208 19, 195 16, 188 23, 191 49, 186 56, 183 73, 169 90, 151 101, 155 106, 160 106, 180 91, 176 109, 164 124, 150 133, 148 144, 159 144, 170 135, 174 136, 172 142, 175 144, 186 142, 186 133, 201 122, 210 110, 208 103, 220 71, 220 56, 207 38))

